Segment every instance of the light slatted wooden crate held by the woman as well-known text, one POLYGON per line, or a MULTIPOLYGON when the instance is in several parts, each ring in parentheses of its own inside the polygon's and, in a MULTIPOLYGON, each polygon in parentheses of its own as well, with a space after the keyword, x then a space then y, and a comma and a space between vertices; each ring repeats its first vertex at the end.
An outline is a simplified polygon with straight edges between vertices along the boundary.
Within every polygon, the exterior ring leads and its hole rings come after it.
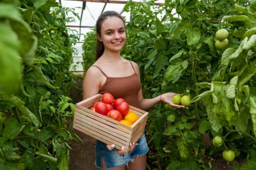
POLYGON ((139 120, 132 126, 127 126, 90 110, 93 103, 100 101, 101 97, 102 95, 98 94, 76 103, 73 128, 106 144, 115 144, 117 149, 124 146, 125 150, 129 151, 129 143, 137 142, 143 134, 148 112, 130 105, 131 112, 137 114, 139 120))

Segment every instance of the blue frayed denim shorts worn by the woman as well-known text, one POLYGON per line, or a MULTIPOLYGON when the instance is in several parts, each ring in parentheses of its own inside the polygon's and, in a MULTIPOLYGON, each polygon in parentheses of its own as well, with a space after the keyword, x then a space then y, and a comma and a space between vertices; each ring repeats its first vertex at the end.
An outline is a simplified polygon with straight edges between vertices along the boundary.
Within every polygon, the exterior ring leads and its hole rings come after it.
POLYGON ((111 169, 127 165, 130 161, 134 161, 133 157, 145 155, 150 150, 145 134, 142 134, 141 138, 137 141, 137 144, 138 145, 135 146, 132 153, 125 153, 124 157, 122 157, 117 150, 113 149, 112 151, 109 151, 108 148, 106 148, 105 143, 96 140, 96 167, 100 169, 102 168, 101 157, 103 157, 107 169, 111 169))

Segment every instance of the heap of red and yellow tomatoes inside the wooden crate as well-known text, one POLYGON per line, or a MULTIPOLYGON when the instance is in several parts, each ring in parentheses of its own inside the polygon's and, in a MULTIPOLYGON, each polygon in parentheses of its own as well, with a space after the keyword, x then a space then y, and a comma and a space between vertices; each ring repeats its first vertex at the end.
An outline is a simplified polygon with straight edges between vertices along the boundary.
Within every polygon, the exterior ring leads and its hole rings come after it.
POLYGON ((102 100, 95 101, 90 110, 108 116, 108 118, 112 118, 128 126, 131 126, 139 119, 137 114, 130 111, 130 106, 125 99, 115 99, 111 93, 104 93, 102 100))

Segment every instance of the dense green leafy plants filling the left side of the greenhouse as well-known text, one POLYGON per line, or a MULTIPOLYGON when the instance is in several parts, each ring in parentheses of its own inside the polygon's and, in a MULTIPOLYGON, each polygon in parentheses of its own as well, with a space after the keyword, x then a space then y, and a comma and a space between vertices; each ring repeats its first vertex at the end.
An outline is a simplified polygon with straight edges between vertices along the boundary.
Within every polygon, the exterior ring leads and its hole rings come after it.
POLYGON ((69 169, 71 45, 54 0, 0 1, 0 169, 69 169))

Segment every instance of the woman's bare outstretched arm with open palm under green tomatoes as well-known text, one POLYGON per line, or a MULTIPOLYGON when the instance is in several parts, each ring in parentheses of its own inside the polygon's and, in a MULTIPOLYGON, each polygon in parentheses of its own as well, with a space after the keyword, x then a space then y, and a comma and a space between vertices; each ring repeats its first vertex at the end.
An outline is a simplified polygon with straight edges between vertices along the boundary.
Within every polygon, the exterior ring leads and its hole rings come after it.
MULTIPOLYGON (((133 62, 133 66, 140 80, 139 67, 135 62, 133 62)), ((154 105, 156 105, 156 103, 160 102, 168 103, 174 108, 185 108, 185 106, 183 105, 176 105, 172 103, 172 97, 174 95, 177 95, 177 93, 163 93, 162 95, 158 95, 157 97, 154 97, 152 99, 144 99, 142 89, 140 89, 138 94, 139 108, 141 110, 149 110, 154 105)))

